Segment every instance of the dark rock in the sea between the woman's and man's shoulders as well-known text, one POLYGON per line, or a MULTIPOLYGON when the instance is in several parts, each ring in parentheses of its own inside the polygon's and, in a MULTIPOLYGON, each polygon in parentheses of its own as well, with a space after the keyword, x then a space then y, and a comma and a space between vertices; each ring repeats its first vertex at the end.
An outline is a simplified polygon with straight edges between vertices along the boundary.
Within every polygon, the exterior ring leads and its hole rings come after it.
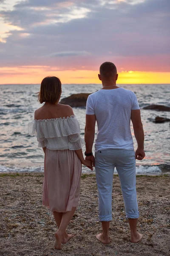
POLYGON ((91 93, 77 93, 60 100, 60 104, 70 105, 72 108, 82 108, 86 106, 86 101, 91 93))

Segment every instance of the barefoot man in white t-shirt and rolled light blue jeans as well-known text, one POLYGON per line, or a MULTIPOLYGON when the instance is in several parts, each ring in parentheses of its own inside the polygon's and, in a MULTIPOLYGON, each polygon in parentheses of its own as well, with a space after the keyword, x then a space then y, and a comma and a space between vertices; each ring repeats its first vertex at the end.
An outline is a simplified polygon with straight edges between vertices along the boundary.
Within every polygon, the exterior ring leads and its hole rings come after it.
POLYGON ((136 159, 142 160, 145 156, 140 108, 135 93, 116 86, 118 74, 113 63, 103 63, 100 66, 98 76, 103 87, 88 96, 85 126, 85 155, 86 159, 94 163, 92 146, 97 121, 95 169, 102 233, 98 234, 96 238, 104 244, 110 242, 112 184, 114 167, 116 167, 124 198, 126 218, 128 218, 130 225, 130 241, 136 243, 142 239, 142 234, 138 233, 136 229, 139 218, 136 199, 136 159), (138 144, 136 152, 133 148, 130 119, 138 144))

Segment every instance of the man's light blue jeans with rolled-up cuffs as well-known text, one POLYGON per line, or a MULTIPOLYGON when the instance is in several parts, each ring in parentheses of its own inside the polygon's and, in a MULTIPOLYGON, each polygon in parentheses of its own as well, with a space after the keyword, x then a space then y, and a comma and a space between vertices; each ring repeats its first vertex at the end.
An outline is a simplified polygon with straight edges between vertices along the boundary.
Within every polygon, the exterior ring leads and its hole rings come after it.
POLYGON ((105 149, 95 153, 99 221, 112 220, 112 185, 115 167, 122 188, 126 218, 139 218, 135 152, 134 150, 105 149))

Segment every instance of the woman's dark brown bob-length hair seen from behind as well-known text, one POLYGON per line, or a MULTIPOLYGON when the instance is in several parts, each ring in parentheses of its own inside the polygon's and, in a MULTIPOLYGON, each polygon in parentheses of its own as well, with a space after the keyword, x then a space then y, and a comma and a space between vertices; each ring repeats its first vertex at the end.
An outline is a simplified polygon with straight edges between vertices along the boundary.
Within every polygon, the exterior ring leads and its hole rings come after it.
POLYGON ((41 104, 43 102, 56 104, 59 102, 61 92, 61 81, 58 77, 45 77, 41 82, 40 92, 38 94, 38 101, 41 104))

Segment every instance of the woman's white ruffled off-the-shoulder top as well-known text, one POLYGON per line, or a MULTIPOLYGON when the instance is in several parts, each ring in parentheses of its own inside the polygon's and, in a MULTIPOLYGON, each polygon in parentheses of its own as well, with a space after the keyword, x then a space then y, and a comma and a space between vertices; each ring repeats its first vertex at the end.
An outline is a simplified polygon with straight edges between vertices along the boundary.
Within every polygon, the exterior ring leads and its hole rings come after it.
POLYGON ((39 147, 50 150, 78 150, 85 145, 76 116, 34 120, 28 123, 28 134, 37 137, 39 147))

